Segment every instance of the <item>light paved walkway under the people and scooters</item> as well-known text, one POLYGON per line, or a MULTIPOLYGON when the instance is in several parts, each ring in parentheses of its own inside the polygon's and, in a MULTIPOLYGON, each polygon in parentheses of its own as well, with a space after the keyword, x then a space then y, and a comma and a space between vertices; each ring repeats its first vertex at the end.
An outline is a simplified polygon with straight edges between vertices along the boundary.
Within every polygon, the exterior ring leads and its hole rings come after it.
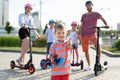
MULTIPOLYGON (((84 53, 79 46, 80 59, 84 61, 84 67, 86 66, 86 60, 84 53)), ((83 71, 80 67, 72 67, 70 80, 119 80, 120 79, 120 58, 119 57, 109 57, 102 54, 101 63, 105 60, 108 61, 108 69, 103 73, 99 74, 97 77, 94 75, 93 67, 95 63, 95 50, 90 49, 90 60, 92 70, 83 71)), ((50 80, 50 69, 42 70, 40 68, 41 59, 45 58, 43 54, 33 54, 33 63, 35 66, 35 73, 29 74, 28 70, 20 70, 15 68, 10 69, 10 61, 16 60, 19 53, 15 52, 0 52, 0 80, 50 80)), ((26 55, 26 61, 29 59, 29 55, 26 55)))

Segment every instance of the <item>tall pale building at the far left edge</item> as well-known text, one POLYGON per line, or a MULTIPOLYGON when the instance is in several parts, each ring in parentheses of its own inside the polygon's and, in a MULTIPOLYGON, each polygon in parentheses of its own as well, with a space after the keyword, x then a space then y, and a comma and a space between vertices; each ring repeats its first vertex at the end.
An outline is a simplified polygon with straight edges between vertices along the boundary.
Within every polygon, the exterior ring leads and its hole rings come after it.
POLYGON ((9 17, 9 0, 0 0, 0 26, 5 26, 9 17))

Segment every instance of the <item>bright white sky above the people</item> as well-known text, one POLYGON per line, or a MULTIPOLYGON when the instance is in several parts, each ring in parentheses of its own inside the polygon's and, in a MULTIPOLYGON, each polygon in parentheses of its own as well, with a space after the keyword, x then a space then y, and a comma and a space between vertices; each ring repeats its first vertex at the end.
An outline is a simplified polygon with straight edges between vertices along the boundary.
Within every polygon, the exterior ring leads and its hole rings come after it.
MULTIPOLYGON (((71 28, 72 21, 80 23, 82 14, 86 13, 85 2, 88 0, 41 0, 41 24, 44 28, 50 19, 62 20, 67 28, 71 28)), ((111 29, 116 29, 120 23, 119 0, 91 0, 93 11, 99 12, 107 21, 111 29)), ((19 27, 18 16, 24 12, 24 5, 32 3, 32 12, 40 11, 40 0, 9 0, 9 21, 11 25, 19 27)), ((98 26, 103 26, 98 21, 98 26)))

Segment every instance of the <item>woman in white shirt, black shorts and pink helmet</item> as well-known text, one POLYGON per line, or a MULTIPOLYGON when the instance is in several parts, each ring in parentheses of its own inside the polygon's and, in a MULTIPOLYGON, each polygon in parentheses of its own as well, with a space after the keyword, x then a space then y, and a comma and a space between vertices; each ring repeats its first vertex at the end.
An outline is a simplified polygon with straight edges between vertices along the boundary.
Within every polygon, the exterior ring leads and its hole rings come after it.
MULTIPOLYGON (((28 28, 36 28, 34 25, 34 20, 30 15, 31 10, 32 10, 32 4, 28 3, 25 5, 25 12, 19 15, 19 25, 20 25, 19 37, 22 40, 22 45, 21 45, 22 49, 21 49, 21 55, 19 59, 17 59, 16 61, 20 66, 24 66, 25 53, 27 53, 29 49, 28 28)), ((37 33, 36 30, 33 30, 33 33, 36 34, 38 39, 40 39, 40 35, 37 33)))

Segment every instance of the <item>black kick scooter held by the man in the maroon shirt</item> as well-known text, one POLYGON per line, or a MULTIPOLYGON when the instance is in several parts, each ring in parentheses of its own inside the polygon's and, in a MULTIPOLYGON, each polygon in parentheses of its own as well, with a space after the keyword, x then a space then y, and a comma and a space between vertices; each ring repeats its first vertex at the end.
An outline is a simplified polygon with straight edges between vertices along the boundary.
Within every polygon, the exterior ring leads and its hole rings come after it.
POLYGON ((92 28, 96 28, 97 29, 96 61, 95 61, 95 65, 94 65, 95 76, 97 76, 98 72, 100 72, 102 70, 107 70, 107 65, 108 65, 107 61, 105 61, 103 63, 103 66, 100 64, 99 54, 98 54, 100 28, 105 28, 105 26, 102 26, 102 27, 92 27, 92 28))

